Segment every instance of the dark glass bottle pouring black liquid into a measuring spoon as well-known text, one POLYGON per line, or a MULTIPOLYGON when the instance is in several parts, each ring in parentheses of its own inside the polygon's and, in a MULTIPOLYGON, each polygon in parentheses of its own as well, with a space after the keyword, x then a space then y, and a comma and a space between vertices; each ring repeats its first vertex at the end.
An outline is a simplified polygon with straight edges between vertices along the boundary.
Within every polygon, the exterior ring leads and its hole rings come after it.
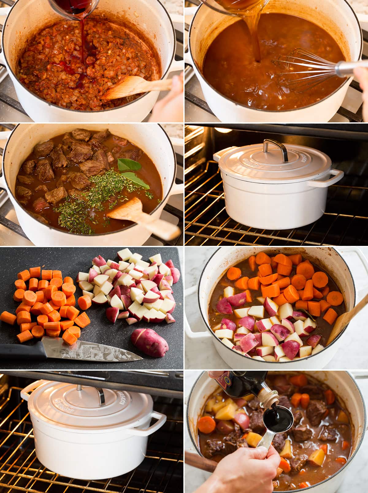
POLYGON ((279 403, 279 395, 266 384, 267 373, 249 370, 225 371, 216 381, 230 397, 240 398, 253 394, 261 407, 269 409, 279 403))

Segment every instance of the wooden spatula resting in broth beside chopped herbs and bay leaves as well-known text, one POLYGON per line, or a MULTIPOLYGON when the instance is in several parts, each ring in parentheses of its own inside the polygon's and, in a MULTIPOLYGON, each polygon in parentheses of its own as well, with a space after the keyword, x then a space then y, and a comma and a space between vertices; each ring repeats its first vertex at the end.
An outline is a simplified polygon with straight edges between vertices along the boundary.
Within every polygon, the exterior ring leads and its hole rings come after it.
POLYGON ((119 207, 115 207, 107 215, 113 219, 136 222, 166 241, 174 240, 174 238, 180 235, 180 228, 175 226, 175 224, 163 221, 162 219, 155 219, 151 215, 146 214, 146 212, 143 212, 142 202, 136 197, 119 207))

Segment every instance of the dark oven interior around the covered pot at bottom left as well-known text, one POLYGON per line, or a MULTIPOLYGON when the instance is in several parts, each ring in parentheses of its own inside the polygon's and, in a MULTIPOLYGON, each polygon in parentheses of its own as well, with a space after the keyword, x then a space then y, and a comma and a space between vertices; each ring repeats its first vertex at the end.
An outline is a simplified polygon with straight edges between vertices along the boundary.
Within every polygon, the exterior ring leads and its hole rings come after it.
POLYGON ((0 374, 0 493, 140 492, 178 493, 183 490, 183 372, 31 372, 0 374), (144 461, 133 471, 100 481, 60 476, 36 457, 27 402, 20 390, 38 379, 94 387, 144 391, 166 423, 148 437, 144 461))

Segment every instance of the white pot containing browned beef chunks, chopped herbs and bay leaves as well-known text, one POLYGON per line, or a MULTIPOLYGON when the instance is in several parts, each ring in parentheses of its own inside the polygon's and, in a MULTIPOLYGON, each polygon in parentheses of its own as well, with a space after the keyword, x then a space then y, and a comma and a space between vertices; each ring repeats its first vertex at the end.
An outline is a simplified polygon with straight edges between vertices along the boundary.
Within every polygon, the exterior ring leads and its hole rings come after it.
MULTIPOLYGON (((151 212, 153 217, 160 217, 171 195, 184 192, 183 185, 175 183, 176 157, 173 145, 160 125, 156 123, 145 123, 144 125, 94 123, 86 124, 86 127, 96 132, 108 127, 112 134, 135 143, 151 158, 161 177, 164 197, 156 209, 151 212)), ((75 124, 72 123, 54 123, 51 125, 21 123, 12 132, 0 133, 0 140, 8 138, 2 155, 0 187, 7 191, 23 231, 36 246, 143 245, 151 233, 138 224, 114 233, 92 236, 75 235, 37 221, 15 198, 17 174, 33 147, 39 142, 47 141, 64 132, 71 132, 73 129, 75 129, 75 124)))

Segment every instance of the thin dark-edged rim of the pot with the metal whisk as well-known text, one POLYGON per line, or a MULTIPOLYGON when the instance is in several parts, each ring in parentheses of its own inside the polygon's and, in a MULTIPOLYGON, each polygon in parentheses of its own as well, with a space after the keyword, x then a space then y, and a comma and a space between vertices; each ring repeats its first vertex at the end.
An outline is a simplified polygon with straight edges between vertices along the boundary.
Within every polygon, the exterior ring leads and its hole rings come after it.
MULTIPOLYGON (((357 24, 358 24, 358 27, 359 27, 359 31, 360 31, 360 50, 359 50, 359 57, 358 57, 358 60, 361 59, 362 57, 362 54, 363 54, 363 31, 362 31, 362 27, 360 25, 360 22, 359 22, 359 19, 358 19, 358 16, 357 14, 355 13, 353 7, 350 5, 350 3, 347 1, 347 0, 342 0, 344 1, 347 6, 350 8, 350 10, 352 11, 354 17, 355 17, 355 20, 357 21, 357 24)), ((264 113, 290 113, 291 115, 294 114, 295 111, 298 111, 300 109, 306 109, 306 108, 311 108, 315 105, 317 105, 318 103, 322 103, 323 101, 326 101, 328 98, 330 98, 333 94, 335 94, 337 91, 339 91, 342 87, 344 87, 345 84, 347 84, 350 80, 351 77, 348 77, 344 82, 341 83, 341 85, 339 85, 333 92, 331 92, 330 94, 328 94, 327 96, 325 96, 323 99, 320 99, 319 101, 316 101, 315 103, 311 103, 310 105, 307 105, 307 106, 301 106, 300 108, 295 108, 295 109, 261 109, 261 108, 252 108, 252 107, 249 107, 249 106, 246 106, 246 105, 243 105, 242 103, 237 103, 236 101, 233 101, 232 99, 228 98, 227 96, 224 96, 223 94, 221 94, 220 91, 218 91, 217 89, 215 89, 215 87, 213 87, 207 79, 204 78, 203 74, 202 74, 202 71, 200 70, 200 68, 198 67, 198 64, 196 62, 196 60, 194 59, 193 57, 193 54, 192 54, 192 50, 191 50, 191 40, 190 40, 190 35, 191 35, 191 31, 192 31, 192 27, 193 27, 193 23, 194 23, 194 19, 196 17, 196 15, 198 14, 198 12, 200 11, 200 9, 204 7, 203 3, 201 3, 201 5, 199 6, 199 8, 197 8, 197 10, 195 11, 194 15, 193 15, 193 19, 190 23, 190 26, 189 26, 189 32, 188 32, 188 50, 189 50, 189 53, 190 53, 190 58, 192 59, 193 61, 193 64, 195 66, 195 68, 198 70, 200 76, 202 77, 202 79, 206 82, 206 84, 208 84, 208 86, 213 90, 215 91, 219 96, 221 96, 223 99, 226 99, 227 101, 229 101, 230 103, 233 103, 235 106, 241 106, 242 108, 246 108, 248 110, 251 110, 251 111, 262 111, 264 113)), ((350 83, 349 83, 350 85, 350 83)))

